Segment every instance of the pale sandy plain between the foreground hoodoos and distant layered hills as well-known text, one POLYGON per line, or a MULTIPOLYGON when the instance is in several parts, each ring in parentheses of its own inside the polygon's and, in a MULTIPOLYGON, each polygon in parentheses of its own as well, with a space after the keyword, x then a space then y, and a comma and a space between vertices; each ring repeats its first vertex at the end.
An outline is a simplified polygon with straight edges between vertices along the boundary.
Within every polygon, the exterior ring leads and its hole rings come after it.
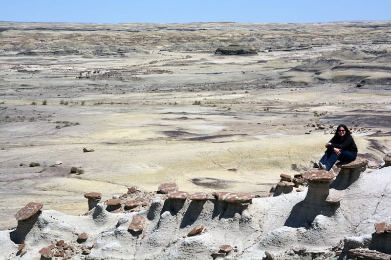
MULTIPOLYGON (((266 195, 281 173, 312 167, 339 123, 354 129, 359 153, 374 163, 390 149, 389 85, 349 80, 388 79, 389 71, 327 67, 317 81, 293 69, 343 45, 235 57, 156 45, 88 58, 2 46, 0 229, 16 226, 13 215, 29 201, 78 215, 87 210, 84 193, 107 200, 132 185, 156 191, 175 181, 189 192, 266 195), (69 174, 71 167, 84 173, 69 174)), ((366 57, 351 58, 340 56, 356 66, 366 57)))

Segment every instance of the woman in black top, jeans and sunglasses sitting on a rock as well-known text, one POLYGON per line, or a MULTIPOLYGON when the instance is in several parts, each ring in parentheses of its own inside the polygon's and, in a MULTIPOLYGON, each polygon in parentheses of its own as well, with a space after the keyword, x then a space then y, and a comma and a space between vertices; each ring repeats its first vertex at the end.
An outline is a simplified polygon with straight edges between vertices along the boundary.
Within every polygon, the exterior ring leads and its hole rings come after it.
POLYGON ((329 171, 337 160, 346 163, 356 160, 357 146, 344 124, 338 125, 334 137, 325 146, 327 150, 319 161, 319 168, 329 171))

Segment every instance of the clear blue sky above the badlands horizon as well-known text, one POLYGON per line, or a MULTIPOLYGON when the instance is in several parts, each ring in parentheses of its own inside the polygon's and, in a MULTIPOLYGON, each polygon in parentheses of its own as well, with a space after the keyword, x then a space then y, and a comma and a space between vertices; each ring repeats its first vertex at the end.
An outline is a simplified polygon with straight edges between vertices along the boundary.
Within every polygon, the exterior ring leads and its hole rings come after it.
POLYGON ((1 0, 0 20, 93 23, 391 20, 391 0, 1 0))

